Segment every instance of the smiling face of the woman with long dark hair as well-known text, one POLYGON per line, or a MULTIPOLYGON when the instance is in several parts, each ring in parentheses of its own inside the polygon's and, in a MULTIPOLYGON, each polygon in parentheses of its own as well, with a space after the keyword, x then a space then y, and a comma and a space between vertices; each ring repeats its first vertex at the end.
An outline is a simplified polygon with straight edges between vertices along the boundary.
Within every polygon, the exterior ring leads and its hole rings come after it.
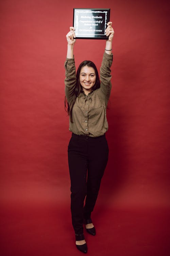
POLYGON ((92 90, 96 82, 96 73, 94 68, 84 66, 80 70, 80 84, 84 93, 87 95, 92 90))

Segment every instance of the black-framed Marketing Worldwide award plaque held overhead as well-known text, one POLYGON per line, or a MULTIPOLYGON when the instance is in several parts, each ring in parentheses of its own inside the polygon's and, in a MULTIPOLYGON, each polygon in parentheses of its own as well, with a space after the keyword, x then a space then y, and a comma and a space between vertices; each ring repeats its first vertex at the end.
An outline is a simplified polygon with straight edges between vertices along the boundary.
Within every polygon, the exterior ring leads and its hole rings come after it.
POLYGON ((111 9, 73 9, 76 39, 107 39, 105 30, 111 9))

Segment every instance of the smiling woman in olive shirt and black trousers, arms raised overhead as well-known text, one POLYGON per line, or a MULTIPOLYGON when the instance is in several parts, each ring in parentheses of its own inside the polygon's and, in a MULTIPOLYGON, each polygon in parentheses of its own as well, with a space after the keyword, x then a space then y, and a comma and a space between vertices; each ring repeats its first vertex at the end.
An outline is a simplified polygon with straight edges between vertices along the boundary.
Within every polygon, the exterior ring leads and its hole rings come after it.
POLYGON ((106 28, 108 40, 100 68, 100 79, 97 68, 91 61, 83 61, 76 74, 73 55, 76 42, 74 30, 70 27, 66 35, 68 46, 65 61, 65 94, 70 117, 69 130, 72 132, 68 145, 71 216, 75 244, 78 250, 87 253, 83 221, 86 224, 86 231, 95 235, 91 212, 95 207, 108 160, 108 145, 105 138, 105 132, 108 130, 106 108, 111 93, 110 67, 113 60, 114 30, 112 22, 108 22, 106 28))

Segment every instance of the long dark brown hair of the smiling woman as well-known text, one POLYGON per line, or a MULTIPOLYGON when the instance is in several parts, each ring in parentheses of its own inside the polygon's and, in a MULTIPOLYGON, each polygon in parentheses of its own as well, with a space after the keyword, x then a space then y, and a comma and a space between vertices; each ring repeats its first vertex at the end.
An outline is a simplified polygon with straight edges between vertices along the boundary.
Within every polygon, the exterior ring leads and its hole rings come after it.
POLYGON ((96 73, 96 82, 95 82, 95 85, 92 87, 92 90, 96 90, 96 89, 100 88, 100 79, 99 79, 99 74, 98 74, 98 70, 96 68, 95 63, 90 60, 84 60, 82 63, 80 63, 79 68, 76 73, 76 84, 75 84, 75 89, 73 91, 73 95, 71 97, 72 99, 71 99, 70 104, 68 103, 68 101, 65 97, 65 110, 68 112, 71 122, 72 122, 73 105, 75 103, 76 98, 79 96, 80 92, 82 91, 82 86, 80 84, 80 71, 81 71, 81 68, 83 68, 85 66, 94 68, 95 73, 96 73))

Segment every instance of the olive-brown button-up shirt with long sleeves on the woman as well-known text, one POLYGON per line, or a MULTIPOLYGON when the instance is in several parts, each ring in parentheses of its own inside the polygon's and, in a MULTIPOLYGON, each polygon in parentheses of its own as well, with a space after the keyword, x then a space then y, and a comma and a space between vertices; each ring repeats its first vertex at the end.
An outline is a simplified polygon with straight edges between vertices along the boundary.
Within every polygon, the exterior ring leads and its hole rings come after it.
MULTIPOLYGON (((88 95, 84 91, 78 95, 72 109, 72 121, 69 122, 69 130, 78 135, 90 137, 102 136, 108 130, 106 108, 111 94, 111 66, 113 55, 104 52, 100 68, 99 89, 92 90, 88 95)), ((76 84, 75 62, 66 58, 65 61, 65 94, 68 103, 74 92, 76 84)))

